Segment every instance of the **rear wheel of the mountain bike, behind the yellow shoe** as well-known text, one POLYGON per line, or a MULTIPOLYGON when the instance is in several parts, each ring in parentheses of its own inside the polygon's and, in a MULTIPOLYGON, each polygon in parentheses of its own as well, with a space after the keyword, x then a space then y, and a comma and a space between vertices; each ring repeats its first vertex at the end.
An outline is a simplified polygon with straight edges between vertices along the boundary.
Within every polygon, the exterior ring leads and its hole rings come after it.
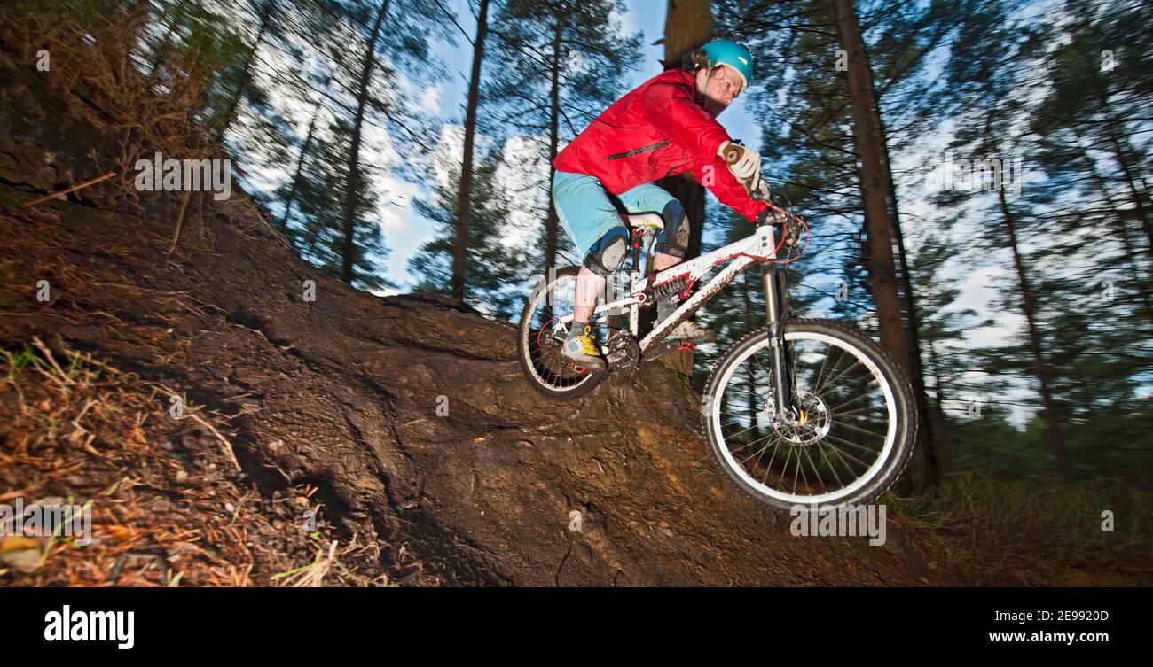
MULTIPOLYGON (((558 268, 533 290, 520 314, 517 357, 533 388, 560 401, 571 401, 591 392, 608 371, 590 372, 560 356, 571 324, 557 324, 572 314, 576 305, 579 266, 558 268)), ((593 325, 597 340, 606 340, 605 325, 593 325)))

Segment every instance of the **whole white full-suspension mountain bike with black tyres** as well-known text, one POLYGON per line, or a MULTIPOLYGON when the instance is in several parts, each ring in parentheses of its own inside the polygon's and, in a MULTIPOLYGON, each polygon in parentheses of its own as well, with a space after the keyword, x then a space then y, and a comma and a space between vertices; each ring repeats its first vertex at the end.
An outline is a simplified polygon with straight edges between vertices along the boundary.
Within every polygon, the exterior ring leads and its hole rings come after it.
POLYGON ((701 434, 709 454, 740 492, 778 511, 871 502, 892 486, 912 455, 918 425, 912 387, 892 356, 864 332, 796 317, 784 265, 807 250, 807 227, 771 202, 767 185, 755 192, 745 187, 769 204, 769 219, 746 238, 661 272, 653 267, 661 217, 621 215, 631 230, 631 266, 626 262, 606 281, 590 320, 603 341, 603 371, 590 372, 560 356, 580 267, 550 271, 521 313, 521 367, 536 391, 568 401, 588 394, 610 373, 694 349, 694 342, 665 336, 740 272, 759 266, 764 326, 719 356, 701 396, 701 434), (784 259, 778 258, 782 249, 784 259), (719 271, 702 282, 714 268, 719 271), (680 300, 677 310, 641 335, 641 310, 673 294, 680 300))

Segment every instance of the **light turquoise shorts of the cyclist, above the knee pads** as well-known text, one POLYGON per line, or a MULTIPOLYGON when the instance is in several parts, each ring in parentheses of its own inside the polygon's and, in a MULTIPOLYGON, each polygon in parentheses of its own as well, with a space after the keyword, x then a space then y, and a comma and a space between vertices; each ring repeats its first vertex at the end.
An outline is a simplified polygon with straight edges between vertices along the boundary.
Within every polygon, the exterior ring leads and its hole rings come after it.
MULTIPOLYGON (((616 195, 630 213, 656 213, 676 199, 663 188, 641 183, 616 195)), ((552 176, 552 203, 568 238, 576 245, 581 259, 610 229, 625 228, 620 213, 612 205, 609 191, 595 176, 557 172, 552 176)), ((627 228, 625 228, 627 232, 627 228)))

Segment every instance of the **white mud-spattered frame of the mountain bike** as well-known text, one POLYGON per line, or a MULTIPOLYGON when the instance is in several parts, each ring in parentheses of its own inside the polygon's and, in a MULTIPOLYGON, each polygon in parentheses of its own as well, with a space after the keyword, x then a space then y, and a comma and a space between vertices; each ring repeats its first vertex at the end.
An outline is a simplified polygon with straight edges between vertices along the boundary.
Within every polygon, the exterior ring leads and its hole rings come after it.
MULTIPOLYGON (((643 238, 648 248, 648 257, 653 257, 653 249, 650 236, 655 234, 653 230, 646 230, 643 238)), ((732 282, 737 274, 747 268, 751 264, 756 262, 766 262, 776 259, 776 242, 774 240, 773 226, 761 225, 756 228, 753 235, 741 238, 740 241, 734 241, 722 248, 701 255, 695 259, 688 262, 683 262, 676 266, 665 268, 664 271, 653 275, 653 287, 660 288, 662 285, 666 285, 671 281, 685 278, 687 281, 695 283, 702 275, 708 273, 714 266, 724 264, 726 262, 731 263, 721 270, 719 273, 709 279, 708 282, 701 287, 695 294, 693 294, 685 303, 680 304, 676 311, 672 312, 666 319, 657 325, 643 340, 640 341, 640 351, 645 354, 653 348, 656 343, 664 340, 665 335, 672 331, 675 326, 684 321, 686 318, 696 312, 696 309, 701 306, 706 301, 713 298, 716 293, 724 289, 726 285, 732 282)), ((617 314, 620 312, 628 312, 628 328, 635 338, 638 334, 638 325, 640 321, 640 309, 646 302, 646 287, 647 280, 642 276, 640 267, 634 266, 628 271, 628 279, 631 289, 628 296, 619 298, 616 301, 609 301, 603 303, 593 311, 593 317, 596 318, 598 314, 604 314, 606 319, 610 313, 617 314)), ((611 285, 611 281, 606 285, 611 285)), ((558 317, 556 319, 557 327, 567 325, 573 320, 573 314, 566 314, 558 317)), ((601 321, 597 319, 596 321, 601 321)))

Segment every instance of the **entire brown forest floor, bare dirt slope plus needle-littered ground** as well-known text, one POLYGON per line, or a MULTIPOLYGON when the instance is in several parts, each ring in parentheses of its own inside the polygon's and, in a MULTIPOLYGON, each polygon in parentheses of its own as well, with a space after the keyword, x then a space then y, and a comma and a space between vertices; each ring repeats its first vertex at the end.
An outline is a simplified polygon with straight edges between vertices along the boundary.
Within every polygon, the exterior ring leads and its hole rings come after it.
POLYGON ((892 494, 883 546, 794 537, 713 468, 681 376, 548 401, 512 326, 324 279, 235 207, 171 255, 129 211, 0 213, 0 502, 91 501, 96 538, 6 543, 0 583, 1150 583, 1124 549, 990 559, 1012 525, 892 494))

